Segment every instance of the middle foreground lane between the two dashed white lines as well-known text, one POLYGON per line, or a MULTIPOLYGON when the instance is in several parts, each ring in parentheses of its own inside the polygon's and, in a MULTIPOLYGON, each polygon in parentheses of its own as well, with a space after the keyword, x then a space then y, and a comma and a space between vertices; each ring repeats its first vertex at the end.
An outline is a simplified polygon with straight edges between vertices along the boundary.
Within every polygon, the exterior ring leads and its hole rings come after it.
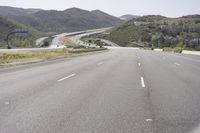
POLYGON ((82 66, 77 76, 1 107, 0 132, 151 132, 134 51, 108 55, 100 67, 99 60, 90 69, 82 66))

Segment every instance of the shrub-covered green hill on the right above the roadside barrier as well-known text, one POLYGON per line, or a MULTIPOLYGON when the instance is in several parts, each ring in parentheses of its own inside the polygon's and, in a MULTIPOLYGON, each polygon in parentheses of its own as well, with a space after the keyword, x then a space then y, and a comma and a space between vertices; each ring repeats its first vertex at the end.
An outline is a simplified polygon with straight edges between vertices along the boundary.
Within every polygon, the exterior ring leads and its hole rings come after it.
POLYGON ((200 50, 200 15, 180 18, 143 16, 114 28, 110 34, 98 36, 121 46, 200 50))

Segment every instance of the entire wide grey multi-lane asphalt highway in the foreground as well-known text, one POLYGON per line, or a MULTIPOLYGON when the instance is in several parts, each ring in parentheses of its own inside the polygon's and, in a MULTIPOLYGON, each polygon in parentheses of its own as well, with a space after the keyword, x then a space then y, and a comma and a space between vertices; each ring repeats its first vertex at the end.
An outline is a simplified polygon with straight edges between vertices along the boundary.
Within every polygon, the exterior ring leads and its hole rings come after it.
POLYGON ((199 133, 200 56, 131 48, 0 68, 0 133, 199 133))

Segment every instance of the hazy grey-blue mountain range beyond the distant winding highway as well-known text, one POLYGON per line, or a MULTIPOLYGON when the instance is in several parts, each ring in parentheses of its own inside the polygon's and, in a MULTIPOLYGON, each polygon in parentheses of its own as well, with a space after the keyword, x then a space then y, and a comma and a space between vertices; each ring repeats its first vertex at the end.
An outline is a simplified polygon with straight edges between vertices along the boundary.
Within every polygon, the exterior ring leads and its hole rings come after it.
POLYGON ((102 11, 70 8, 64 11, 0 7, 0 16, 12 18, 42 32, 72 32, 112 27, 123 23, 102 11))

